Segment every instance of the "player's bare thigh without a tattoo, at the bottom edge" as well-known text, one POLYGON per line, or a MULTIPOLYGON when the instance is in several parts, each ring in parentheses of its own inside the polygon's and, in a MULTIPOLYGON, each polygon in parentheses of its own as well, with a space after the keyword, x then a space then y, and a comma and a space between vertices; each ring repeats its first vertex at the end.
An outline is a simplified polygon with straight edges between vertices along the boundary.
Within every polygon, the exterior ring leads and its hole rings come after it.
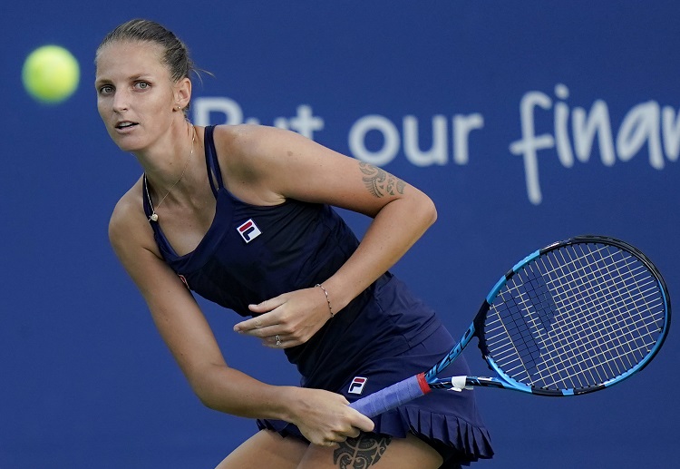
POLYGON ((284 438, 276 432, 260 430, 215 469, 296 469, 308 447, 308 444, 295 437, 284 438))

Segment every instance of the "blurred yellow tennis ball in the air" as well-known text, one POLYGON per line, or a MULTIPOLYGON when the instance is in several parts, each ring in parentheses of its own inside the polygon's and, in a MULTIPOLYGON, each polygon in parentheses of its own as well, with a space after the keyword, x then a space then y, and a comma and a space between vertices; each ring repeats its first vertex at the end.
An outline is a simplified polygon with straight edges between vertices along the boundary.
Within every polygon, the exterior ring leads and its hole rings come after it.
POLYGON ((61 103, 75 92, 80 66, 59 45, 38 47, 26 57, 22 79, 26 91, 41 103, 61 103))

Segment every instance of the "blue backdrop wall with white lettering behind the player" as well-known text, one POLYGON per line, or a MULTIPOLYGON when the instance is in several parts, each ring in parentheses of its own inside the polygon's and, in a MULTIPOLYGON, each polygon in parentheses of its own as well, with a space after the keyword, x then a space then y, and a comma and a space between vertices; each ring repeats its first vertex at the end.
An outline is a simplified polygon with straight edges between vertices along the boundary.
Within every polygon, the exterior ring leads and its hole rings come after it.
MULTIPOLYGON (((643 249, 678 295, 679 15, 675 0, 4 6, 0 468, 213 467, 255 428, 199 404, 108 245, 112 207, 140 174, 95 107, 92 58, 115 25, 160 21, 215 74, 195 83, 194 122, 312 124, 317 142, 428 191, 439 221, 394 270, 457 335, 500 273, 581 233, 643 249), (24 93, 21 66, 42 44, 81 63, 66 103, 24 93)), ((296 383, 283 354, 205 307, 230 365, 296 383)), ((476 348, 466 356, 485 371, 476 348)), ((675 466, 678 358, 671 332, 607 392, 476 391, 497 450, 478 465, 675 466)))

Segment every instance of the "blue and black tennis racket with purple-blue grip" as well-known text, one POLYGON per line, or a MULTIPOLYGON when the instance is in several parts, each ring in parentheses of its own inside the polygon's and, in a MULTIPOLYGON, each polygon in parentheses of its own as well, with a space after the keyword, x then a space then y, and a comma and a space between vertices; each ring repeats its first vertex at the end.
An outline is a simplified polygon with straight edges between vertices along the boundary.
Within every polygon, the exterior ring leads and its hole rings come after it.
POLYGON ((670 314, 664 279, 638 249, 604 236, 559 241, 532 252, 500 278, 437 365, 351 406, 374 416, 432 389, 472 386, 539 396, 605 389, 656 356, 670 314), (497 376, 437 377, 472 337, 497 376))

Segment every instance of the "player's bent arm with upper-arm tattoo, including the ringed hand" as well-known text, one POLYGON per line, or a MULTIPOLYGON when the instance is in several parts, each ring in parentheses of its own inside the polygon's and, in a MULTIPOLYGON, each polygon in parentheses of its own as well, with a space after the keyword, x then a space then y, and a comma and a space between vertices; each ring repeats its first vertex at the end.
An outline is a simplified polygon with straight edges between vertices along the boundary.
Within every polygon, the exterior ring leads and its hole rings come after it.
MULTIPOLYGON (((267 127, 244 132, 237 148, 257 174, 252 187, 266 200, 326 203, 373 218, 355 253, 322 288, 306 288, 254 305, 267 313, 236 325, 238 332, 281 338, 279 347, 304 343, 413 246, 437 214, 432 200, 392 174, 296 134, 267 127), (248 158, 245 155, 249 154, 248 158), (301 314, 304 313, 304 314, 301 314), (285 340, 284 340, 285 339, 285 340)), ((276 344, 265 344, 276 347, 276 344)))

